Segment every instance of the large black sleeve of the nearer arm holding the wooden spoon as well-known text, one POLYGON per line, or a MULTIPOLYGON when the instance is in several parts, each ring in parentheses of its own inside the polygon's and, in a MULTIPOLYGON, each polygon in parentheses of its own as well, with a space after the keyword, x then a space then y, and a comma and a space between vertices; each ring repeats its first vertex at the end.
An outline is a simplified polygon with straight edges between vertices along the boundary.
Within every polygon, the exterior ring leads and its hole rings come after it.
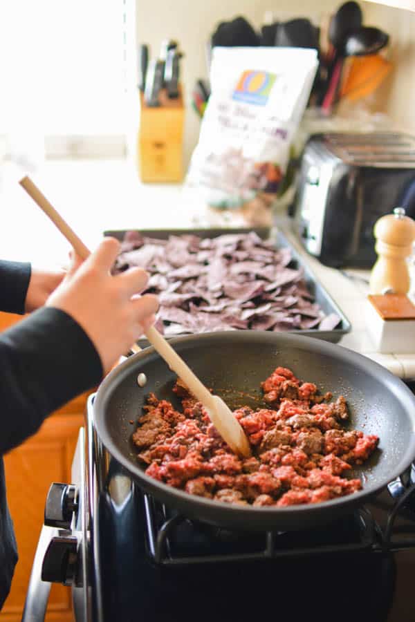
POLYGON ((0 454, 102 379, 91 339, 70 315, 51 307, 0 335, 0 368, 0 454))

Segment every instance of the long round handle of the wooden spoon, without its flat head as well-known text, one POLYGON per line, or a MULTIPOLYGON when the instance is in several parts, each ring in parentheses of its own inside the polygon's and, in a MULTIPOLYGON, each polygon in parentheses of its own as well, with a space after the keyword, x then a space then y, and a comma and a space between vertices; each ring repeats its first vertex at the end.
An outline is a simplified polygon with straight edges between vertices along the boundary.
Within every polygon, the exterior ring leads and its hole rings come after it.
MULTIPOLYGON (((39 205, 41 209, 45 212, 46 216, 52 220, 52 222, 56 225, 57 229, 64 235, 64 237, 68 240, 69 243, 73 246, 77 254, 82 257, 82 259, 86 259, 90 251, 84 245, 82 240, 75 234, 73 229, 69 227, 66 220, 62 218, 62 216, 56 211, 55 207, 50 204, 46 196, 42 194, 39 188, 33 183, 33 181, 24 177, 20 180, 20 185, 23 187, 28 195, 33 198, 33 200, 39 205)), ((181 378, 187 386, 190 388, 192 393, 199 399, 199 402, 202 402, 204 406, 209 406, 212 404, 212 395, 208 391, 208 389, 201 383, 199 378, 197 378, 192 370, 187 367, 185 361, 179 357, 176 352, 173 350, 172 346, 169 346, 169 343, 165 340, 164 337, 151 326, 147 332, 145 332, 145 336, 149 340, 149 342, 154 346, 157 350, 160 357, 163 357, 169 367, 176 372, 179 378, 181 378)), ((134 344, 131 346, 131 350, 133 352, 140 352, 141 348, 134 344)))

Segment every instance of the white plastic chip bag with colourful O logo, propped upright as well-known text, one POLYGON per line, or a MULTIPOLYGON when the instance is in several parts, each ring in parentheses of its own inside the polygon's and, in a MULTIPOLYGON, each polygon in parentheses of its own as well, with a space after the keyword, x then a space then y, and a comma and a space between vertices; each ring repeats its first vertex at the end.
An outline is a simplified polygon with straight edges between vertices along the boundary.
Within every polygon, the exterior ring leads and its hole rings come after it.
POLYGON ((213 49, 212 93, 186 185, 219 209, 270 205, 317 70, 305 48, 213 49))

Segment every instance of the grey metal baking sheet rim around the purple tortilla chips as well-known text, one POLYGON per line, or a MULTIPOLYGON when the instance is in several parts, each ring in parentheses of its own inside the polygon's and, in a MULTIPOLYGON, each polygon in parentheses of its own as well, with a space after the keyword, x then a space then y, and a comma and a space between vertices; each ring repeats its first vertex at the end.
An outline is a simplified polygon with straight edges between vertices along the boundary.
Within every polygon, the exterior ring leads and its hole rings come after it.
MULTIPOLYGON (((128 229, 131 231, 131 229, 128 229)), ((268 227, 261 227, 256 229, 140 229, 142 236, 148 236, 150 238, 159 238, 160 240, 167 240, 169 236, 181 236, 194 234, 201 238, 216 238, 223 234, 247 234, 250 231, 254 231, 263 240, 270 238, 270 229, 268 227)), ((112 236, 122 241, 124 235, 127 233, 127 229, 124 230, 111 230, 105 231, 104 236, 112 236)), ((333 301, 329 293, 324 289, 322 284, 317 280, 310 268, 303 263, 302 258, 299 256, 293 245, 291 245, 284 234, 277 232, 272 234, 271 239, 275 241, 277 248, 288 247, 291 250, 293 259, 289 264, 289 267, 298 269, 302 267, 304 270, 304 280, 306 281, 307 288, 311 295, 314 297, 315 302, 320 305, 320 308, 326 315, 335 313, 340 317, 340 323, 333 330, 318 330, 317 328, 310 328, 308 330, 287 330, 284 332, 292 332, 294 334, 304 334, 307 337, 315 337, 316 339, 323 339, 324 341, 331 341, 332 343, 338 343, 342 339, 344 334, 351 331, 351 323, 344 315, 342 310, 333 301)), ((138 340, 138 345, 142 348, 149 345, 148 341, 143 338, 138 340)))

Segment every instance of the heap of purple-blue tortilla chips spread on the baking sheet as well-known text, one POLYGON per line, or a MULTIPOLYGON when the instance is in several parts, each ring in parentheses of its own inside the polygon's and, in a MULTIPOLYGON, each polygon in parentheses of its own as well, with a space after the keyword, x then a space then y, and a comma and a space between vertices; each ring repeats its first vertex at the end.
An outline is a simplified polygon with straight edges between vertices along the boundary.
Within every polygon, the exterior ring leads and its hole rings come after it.
MULTIPOLYGON (((126 234, 113 272, 150 274, 160 296, 156 326, 167 336, 216 330, 333 330, 340 317, 314 302, 289 248, 257 234, 149 238, 126 234)), ((144 292, 145 293, 145 292, 144 292)))

